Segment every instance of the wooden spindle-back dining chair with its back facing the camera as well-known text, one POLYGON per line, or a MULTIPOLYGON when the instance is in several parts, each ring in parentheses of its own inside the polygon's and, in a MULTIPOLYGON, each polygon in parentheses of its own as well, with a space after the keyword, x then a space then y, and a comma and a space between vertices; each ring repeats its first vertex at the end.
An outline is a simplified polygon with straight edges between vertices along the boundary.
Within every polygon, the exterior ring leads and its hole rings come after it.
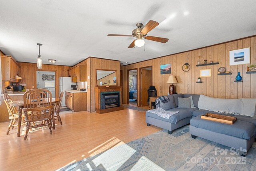
POLYGON ((26 121, 26 135, 24 139, 28 137, 28 131, 31 128, 44 127, 48 125, 50 134, 52 112, 54 112, 54 105, 52 105, 52 93, 48 89, 31 89, 24 94, 24 111, 26 121), (30 114, 29 114, 30 113, 30 114), (31 125, 31 122, 40 121, 38 124, 31 125), (46 121, 47 123, 42 123, 46 121))

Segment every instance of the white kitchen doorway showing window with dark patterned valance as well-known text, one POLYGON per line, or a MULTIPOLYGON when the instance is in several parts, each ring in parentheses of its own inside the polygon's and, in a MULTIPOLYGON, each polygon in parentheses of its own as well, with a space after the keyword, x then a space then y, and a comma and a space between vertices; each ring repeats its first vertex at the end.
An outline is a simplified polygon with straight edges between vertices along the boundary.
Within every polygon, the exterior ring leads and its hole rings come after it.
POLYGON ((48 89, 56 97, 56 72, 36 70, 36 88, 48 89))

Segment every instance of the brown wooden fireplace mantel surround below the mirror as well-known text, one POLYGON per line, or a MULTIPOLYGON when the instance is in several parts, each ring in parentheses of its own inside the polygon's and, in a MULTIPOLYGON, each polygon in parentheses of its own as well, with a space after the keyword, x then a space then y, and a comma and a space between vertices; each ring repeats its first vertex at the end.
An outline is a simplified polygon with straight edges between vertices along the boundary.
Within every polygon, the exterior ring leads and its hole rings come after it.
POLYGON ((111 87, 95 87, 95 108, 97 113, 108 113, 112 111, 118 111, 118 110, 123 110, 124 106, 122 106, 122 87, 120 86, 111 86, 111 87), (120 106, 118 107, 111 107, 107 109, 102 109, 102 93, 114 93, 118 92, 119 93, 119 101, 120 101, 120 106))

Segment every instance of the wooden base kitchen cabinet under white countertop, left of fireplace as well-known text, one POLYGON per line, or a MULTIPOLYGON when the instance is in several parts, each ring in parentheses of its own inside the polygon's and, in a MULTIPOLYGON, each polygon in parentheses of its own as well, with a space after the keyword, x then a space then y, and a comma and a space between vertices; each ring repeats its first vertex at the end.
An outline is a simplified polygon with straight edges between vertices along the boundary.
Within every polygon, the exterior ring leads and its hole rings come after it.
POLYGON ((75 93, 65 91, 65 105, 68 109, 76 111, 87 110, 87 93, 76 91, 75 93))

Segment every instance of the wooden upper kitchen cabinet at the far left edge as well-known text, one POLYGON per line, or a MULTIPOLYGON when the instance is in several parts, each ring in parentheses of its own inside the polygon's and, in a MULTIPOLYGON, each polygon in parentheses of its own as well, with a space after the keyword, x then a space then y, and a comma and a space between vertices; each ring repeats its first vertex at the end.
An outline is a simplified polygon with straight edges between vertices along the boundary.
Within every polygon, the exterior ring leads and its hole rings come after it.
POLYGON ((1 56, 2 81, 19 82, 17 76, 20 76, 20 66, 12 56, 1 56))

